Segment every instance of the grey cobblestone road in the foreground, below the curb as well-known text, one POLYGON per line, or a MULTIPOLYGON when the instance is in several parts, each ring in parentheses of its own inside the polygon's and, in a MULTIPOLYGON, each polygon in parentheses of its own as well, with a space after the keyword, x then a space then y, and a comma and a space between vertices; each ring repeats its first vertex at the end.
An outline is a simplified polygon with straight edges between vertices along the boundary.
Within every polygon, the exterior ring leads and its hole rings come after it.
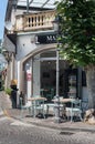
POLYGON ((95 133, 63 132, 0 119, 0 144, 95 144, 95 133))

